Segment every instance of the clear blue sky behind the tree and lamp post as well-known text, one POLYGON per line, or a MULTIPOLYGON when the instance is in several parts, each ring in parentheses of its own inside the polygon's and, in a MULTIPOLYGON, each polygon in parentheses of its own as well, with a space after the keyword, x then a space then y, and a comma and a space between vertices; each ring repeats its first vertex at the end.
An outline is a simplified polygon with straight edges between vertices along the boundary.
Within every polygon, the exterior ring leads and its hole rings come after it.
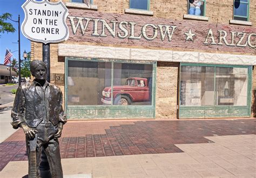
MULTIPOLYGON (((0 0, 0 15, 3 13, 11 13, 13 20, 18 20, 18 15, 21 16, 21 23, 24 20, 24 11, 22 9, 22 4, 25 0, 0 0)), ((4 56, 6 52, 6 48, 11 49, 12 51, 16 51, 12 53, 14 58, 18 60, 18 23, 12 22, 8 20, 15 27, 16 32, 14 33, 0 33, 0 64, 4 63, 4 56)), ((21 32, 21 59, 23 60, 23 52, 24 50, 28 53, 31 51, 30 48, 30 40, 25 38, 21 32)), ((12 60, 12 58, 11 58, 12 60)))

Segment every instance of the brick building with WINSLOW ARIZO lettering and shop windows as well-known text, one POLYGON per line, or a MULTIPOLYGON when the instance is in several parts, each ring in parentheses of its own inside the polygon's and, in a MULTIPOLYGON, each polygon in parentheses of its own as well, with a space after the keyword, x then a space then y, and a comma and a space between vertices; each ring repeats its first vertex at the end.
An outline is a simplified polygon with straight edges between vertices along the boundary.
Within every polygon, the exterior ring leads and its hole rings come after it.
POLYGON ((63 2, 70 36, 50 45, 51 82, 69 119, 254 115, 256 0, 63 2))

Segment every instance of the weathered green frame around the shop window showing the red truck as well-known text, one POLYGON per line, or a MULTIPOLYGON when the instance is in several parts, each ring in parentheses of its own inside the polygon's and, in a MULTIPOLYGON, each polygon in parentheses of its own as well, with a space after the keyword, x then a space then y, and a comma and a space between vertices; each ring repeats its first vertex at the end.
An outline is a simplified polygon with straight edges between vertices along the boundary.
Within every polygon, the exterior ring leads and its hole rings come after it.
MULTIPOLYGON (((94 110, 96 113, 110 113, 109 115, 86 115, 84 117, 76 118, 156 118, 156 70, 157 62, 156 61, 137 61, 137 60, 120 60, 120 59, 104 59, 104 58, 76 58, 76 57, 65 57, 65 111, 66 117, 72 118, 70 112, 76 112, 77 110, 94 110), (68 105, 68 70, 69 70, 69 61, 90 61, 90 62, 112 62, 111 64, 111 105, 68 105), (152 65, 152 98, 151 105, 114 105, 113 104, 113 80, 114 80, 114 63, 137 63, 144 65, 152 65), (71 111, 73 110, 73 111, 71 111), (76 111, 75 111, 76 110, 76 111), (121 115, 117 115, 122 111, 121 115), (125 113, 133 112, 130 116, 125 117, 125 113), (124 112, 124 113, 123 113, 124 112), (145 113, 145 116, 142 113, 145 113), (111 116, 110 116, 111 115, 111 116)), ((91 114, 91 113, 90 113, 91 114)))

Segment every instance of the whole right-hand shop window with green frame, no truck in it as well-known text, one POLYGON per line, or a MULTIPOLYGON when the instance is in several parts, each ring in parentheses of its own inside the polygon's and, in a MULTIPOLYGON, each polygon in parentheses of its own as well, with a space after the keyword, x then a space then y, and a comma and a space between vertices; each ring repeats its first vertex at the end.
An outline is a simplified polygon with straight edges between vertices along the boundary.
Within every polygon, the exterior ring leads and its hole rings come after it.
POLYGON ((250 117, 252 66, 181 63, 179 118, 250 117))

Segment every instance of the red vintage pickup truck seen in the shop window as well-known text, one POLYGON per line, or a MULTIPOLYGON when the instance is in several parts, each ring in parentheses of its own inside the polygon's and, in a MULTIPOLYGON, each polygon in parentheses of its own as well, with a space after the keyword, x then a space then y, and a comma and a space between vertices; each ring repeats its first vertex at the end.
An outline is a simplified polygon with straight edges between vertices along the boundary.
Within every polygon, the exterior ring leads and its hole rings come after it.
MULTIPOLYGON (((105 87, 102 91, 102 102, 111 104, 111 87, 105 87)), ((146 78, 130 77, 126 79, 124 86, 113 86, 114 105, 130 105, 133 102, 145 102, 150 100, 150 89, 146 78)))

